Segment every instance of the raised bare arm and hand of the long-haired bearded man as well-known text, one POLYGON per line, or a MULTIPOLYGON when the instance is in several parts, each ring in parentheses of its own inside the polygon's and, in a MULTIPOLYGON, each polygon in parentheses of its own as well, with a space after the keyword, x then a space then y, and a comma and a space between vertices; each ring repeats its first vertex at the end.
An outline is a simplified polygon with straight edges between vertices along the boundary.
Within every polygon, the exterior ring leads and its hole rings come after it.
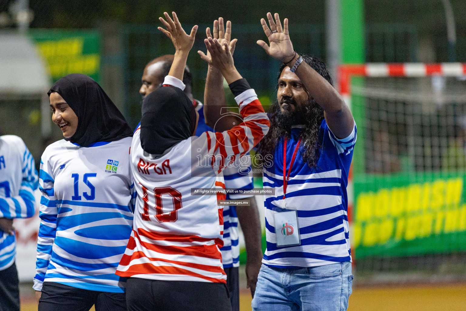
MULTIPOLYGON (((257 41, 257 44, 264 48, 268 55, 292 68, 300 55, 293 49, 293 44, 288 34, 288 19, 286 18, 283 21, 282 28, 278 13, 274 15, 275 21, 272 18, 272 14, 267 13, 270 28, 267 27, 264 19, 260 20, 262 28, 267 35, 269 45, 262 40, 257 41)), ((348 137, 353 131, 354 119, 340 94, 306 62, 299 64, 295 70, 295 74, 304 84, 310 96, 324 110, 325 121, 333 134, 337 138, 348 137)))

